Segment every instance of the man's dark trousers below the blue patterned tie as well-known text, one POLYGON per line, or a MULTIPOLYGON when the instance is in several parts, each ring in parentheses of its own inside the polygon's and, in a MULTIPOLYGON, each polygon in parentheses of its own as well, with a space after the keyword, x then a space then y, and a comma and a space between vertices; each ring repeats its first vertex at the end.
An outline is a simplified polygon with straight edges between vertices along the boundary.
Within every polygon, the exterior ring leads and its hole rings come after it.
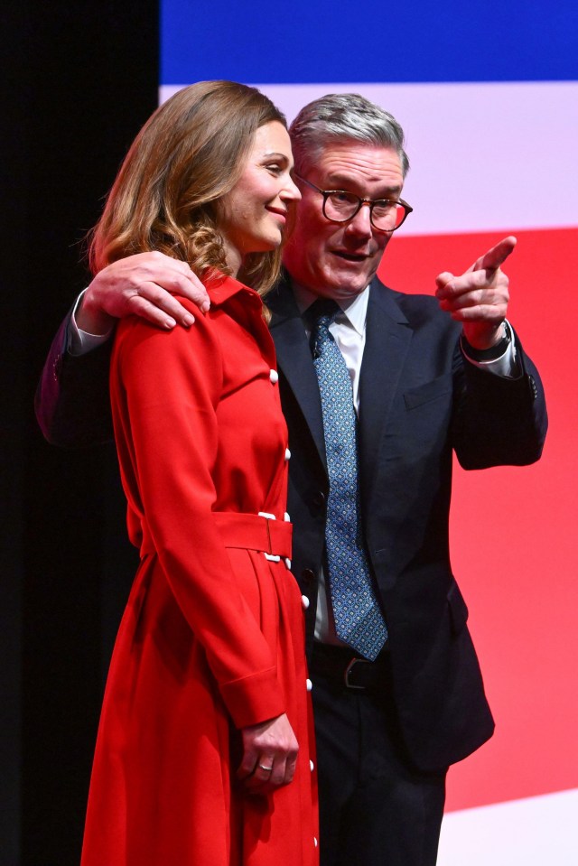
POLYGON ((368 684, 365 689, 344 683, 352 656, 340 647, 316 645, 310 666, 321 864, 434 866, 446 774, 420 773, 406 759, 387 654, 375 669, 357 666, 357 682, 368 684))

